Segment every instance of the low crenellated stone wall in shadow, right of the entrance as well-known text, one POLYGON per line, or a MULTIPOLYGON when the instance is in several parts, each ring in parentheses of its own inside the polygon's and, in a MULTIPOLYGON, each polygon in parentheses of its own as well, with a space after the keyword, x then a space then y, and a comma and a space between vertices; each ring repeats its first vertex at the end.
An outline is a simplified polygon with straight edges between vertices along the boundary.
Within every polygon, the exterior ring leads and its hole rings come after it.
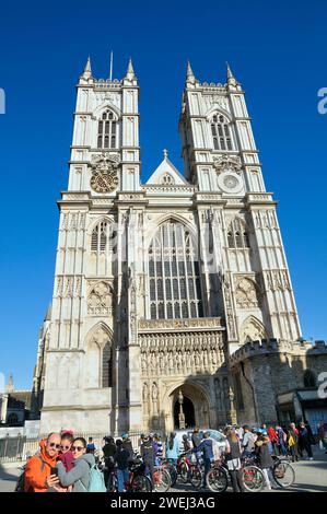
POLYGON ((254 341, 232 354, 230 364, 236 385, 238 423, 276 422, 277 396, 303 388, 306 370, 316 378, 326 371, 327 346, 324 341, 315 344, 276 339, 254 341))

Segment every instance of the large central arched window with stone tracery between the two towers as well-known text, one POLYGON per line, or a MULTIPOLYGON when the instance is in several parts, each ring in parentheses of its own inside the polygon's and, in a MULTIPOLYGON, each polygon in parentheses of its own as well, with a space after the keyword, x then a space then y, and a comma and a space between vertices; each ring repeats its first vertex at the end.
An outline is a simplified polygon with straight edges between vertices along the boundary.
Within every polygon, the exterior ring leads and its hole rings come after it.
POLYGON ((199 264, 182 223, 159 227, 149 248, 149 281, 151 319, 203 316, 199 264))

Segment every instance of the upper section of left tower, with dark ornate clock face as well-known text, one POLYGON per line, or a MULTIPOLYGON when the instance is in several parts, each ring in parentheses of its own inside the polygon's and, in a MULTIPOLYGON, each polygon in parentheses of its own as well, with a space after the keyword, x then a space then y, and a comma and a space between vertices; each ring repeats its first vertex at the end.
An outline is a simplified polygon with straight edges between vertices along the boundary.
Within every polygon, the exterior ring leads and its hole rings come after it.
POLYGON ((89 57, 77 90, 68 189, 95 197, 139 190, 139 85, 131 59, 122 80, 96 80, 89 57))

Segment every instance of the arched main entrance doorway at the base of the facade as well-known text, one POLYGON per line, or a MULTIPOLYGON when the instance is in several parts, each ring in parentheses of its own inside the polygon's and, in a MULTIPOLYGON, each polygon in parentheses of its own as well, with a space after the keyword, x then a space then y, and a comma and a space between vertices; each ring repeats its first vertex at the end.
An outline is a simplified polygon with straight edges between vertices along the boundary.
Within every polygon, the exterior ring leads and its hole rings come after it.
POLYGON ((173 432, 179 428, 179 390, 183 394, 183 411, 185 414, 185 423, 187 424, 186 428, 211 428, 211 424, 213 428, 214 420, 210 420, 209 400, 202 387, 194 383, 184 383, 176 385, 173 390, 171 389, 164 400, 165 430, 173 432), (212 423, 210 421, 212 421, 212 423))

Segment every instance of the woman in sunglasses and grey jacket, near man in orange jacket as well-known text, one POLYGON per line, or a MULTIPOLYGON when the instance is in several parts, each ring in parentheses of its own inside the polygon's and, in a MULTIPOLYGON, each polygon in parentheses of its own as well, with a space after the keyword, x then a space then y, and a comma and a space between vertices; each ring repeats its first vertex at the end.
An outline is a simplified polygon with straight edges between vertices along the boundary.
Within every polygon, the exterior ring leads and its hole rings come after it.
POLYGON ((90 469, 95 464, 94 455, 86 454, 86 441, 83 437, 73 440, 71 452, 74 460, 70 471, 66 471, 62 463, 57 464, 59 481, 63 488, 72 486, 72 492, 87 492, 90 469))

